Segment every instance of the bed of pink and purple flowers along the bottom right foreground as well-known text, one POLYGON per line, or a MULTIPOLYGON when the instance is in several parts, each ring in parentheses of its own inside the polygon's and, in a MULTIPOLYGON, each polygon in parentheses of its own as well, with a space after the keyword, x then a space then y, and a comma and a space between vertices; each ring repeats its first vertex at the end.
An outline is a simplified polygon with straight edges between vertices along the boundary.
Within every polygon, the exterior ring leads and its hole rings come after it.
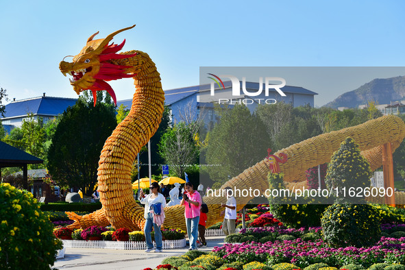
POLYGON ((385 238, 373 247, 328 247, 323 241, 275 241, 267 243, 243 243, 241 245, 225 244, 214 247, 213 254, 223 258, 225 262, 267 262, 275 265, 288 262, 304 269, 308 265, 324 262, 330 267, 342 267, 347 264, 370 267, 375 263, 405 263, 405 237, 385 238))

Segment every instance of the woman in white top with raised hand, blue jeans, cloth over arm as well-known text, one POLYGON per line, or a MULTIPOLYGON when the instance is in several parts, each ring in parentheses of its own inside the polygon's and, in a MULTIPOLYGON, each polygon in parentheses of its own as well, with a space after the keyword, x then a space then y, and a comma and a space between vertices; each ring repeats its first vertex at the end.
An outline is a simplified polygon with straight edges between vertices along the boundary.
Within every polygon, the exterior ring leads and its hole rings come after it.
POLYGON ((151 194, 147 195, 146 197, 143 197, 144 193, 142 190, 139 192, 139 197, 141 198, 140 203, 145 204, 144 217, 146 219, 146 222, 145 228, 143 229, 147 245, 147 249, 145 250, 145 252, 150 252, 154 250, 154 244, 152 243, 151 237, 152 227, 155 230, 155 242, 156 242, 155 252, 162 252, 162 232, 160 231, 160 225, 158 226, 156 223, 154 223, 154 216, 151 212, 151 206, 160 203, 162 204, 163 209, 166 206, 166 199, 164 199, 164 196, 161 193, 159 193, 160 188, 157 182, 153 182, 151 184, 150 190, 151 194))

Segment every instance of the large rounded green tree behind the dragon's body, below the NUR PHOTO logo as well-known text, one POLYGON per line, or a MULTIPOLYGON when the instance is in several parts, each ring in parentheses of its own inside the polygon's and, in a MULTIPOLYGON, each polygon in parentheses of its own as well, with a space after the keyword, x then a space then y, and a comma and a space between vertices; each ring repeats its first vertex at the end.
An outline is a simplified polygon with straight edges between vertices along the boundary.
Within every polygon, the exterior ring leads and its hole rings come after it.
POLYGON ((243 105, 225 110, 209 134, 206 160, 208 173, 221 184, 263 160, 271 140, 256 114, 243 105))

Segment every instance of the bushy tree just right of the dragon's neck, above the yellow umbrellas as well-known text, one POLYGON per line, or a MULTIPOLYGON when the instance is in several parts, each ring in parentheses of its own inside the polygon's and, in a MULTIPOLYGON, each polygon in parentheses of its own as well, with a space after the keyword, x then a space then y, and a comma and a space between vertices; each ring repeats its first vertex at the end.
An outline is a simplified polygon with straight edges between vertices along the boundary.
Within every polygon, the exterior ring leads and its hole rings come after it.
POLYGON ((183 177, 186 167, 198 162, 199 151, 194 140, 194 129, 193 123, 176 123, 167 129, 158 145, 160 156, 177 177, 183 177))

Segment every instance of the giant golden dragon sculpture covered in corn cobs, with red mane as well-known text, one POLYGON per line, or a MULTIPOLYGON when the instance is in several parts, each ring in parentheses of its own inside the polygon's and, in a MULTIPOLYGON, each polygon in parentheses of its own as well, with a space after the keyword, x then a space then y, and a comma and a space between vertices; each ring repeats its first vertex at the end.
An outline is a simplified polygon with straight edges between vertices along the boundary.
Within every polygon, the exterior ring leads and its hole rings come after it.
MULTIPOLYGON (((101 151, 97 181, 102 208, 84 216, 66 212, 75 221, 69 228, 110 224, 114 228, 143 230, 145 225, 144 208, 136 204, 132 195, 130 172, 136 154, 158 129, 164 110, 164 92, 160 74, 147 53, 127 51, 117 54, 125 40, 121 45, 108 45, 116 34, 134 26, 116 31, 104 39, 93 40, 97 32, 88 38, 86 46, 73 57, 73 62, 60 62, 60 71, 65 76, 73 76, 70 81, 76 93, 92 90, 95 100, 97 90, 107 90, 116 103, 114 91, 106 81, 133 77, 136 86, 130 114, 117 125, 101 151)), ((304 182, 297 183, 297 180, 304 180, 304 171, 330 161, 333 152, 347 136, 354 138, 360 145, 363 156, 369 160, 371 169, 376 169, 382 164, 381 145, 391 143, 395 150, 405 137, 405 123, 397 116, 382 116, 356 127, 321 134, 282 149, 275 155, 285 153, 288 156, 288 162, 280 164, 284 180, 295 186, 303 186, 304 182)), ((269 188, 267 173, 269 160, 265 159, 232 178, 221 188, 257 188, 264 192, 269 188)), ((250 196, 235 197, 238 209, 252 199, 250 196)), ((225 202, 225 196, 204 197, 204 202, 210 207, 207 225, 221 221, 223 217, 220 213, 223 208, 220 204, 225 202)), ((164 212, 164 225, 183 230, 186 228, 182 206, 169 206, 164 208, 164 212)))

